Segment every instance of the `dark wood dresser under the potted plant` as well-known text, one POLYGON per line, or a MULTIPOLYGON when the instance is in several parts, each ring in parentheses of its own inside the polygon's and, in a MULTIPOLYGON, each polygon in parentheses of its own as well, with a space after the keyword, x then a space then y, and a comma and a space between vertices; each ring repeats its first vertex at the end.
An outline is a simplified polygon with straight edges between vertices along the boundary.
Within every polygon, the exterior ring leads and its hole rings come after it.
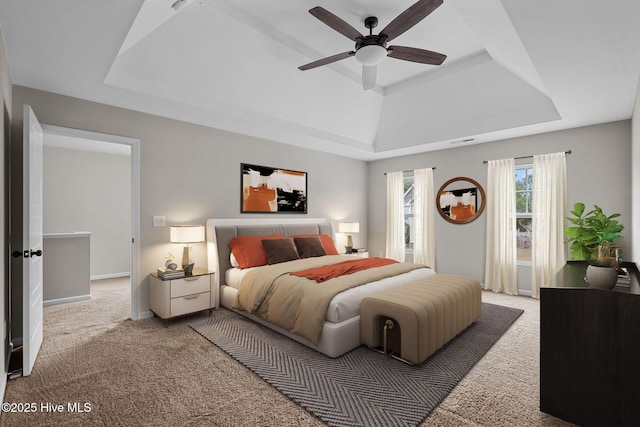
POLYGON ((613 290, 568 262, 540 289, 540 410, 581 426, 640 426, 640 281, 613 290))

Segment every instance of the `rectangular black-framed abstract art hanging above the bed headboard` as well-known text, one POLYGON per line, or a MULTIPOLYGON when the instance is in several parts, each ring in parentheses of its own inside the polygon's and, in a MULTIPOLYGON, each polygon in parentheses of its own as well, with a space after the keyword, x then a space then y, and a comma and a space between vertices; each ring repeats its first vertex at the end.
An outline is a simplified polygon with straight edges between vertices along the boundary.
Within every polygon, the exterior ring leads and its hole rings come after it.
POLYGON ((307 213, 307 173, 240 163, 240 213, 307 213))

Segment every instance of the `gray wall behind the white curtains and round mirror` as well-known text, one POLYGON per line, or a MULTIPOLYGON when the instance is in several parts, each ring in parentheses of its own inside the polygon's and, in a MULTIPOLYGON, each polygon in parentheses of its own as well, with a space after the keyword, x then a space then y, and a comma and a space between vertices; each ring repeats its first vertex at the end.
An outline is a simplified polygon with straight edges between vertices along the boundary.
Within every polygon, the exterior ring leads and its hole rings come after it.
MULTIPOLYGON (((597 204, 605 213, 621 213, 626 225, 624 256, 632 259, 629 120, 369 163, 369 251, 377 256, 385 248, 385 172, 435 166, 436 191, 456 176, 473 178, 486 189, 483 160, 565 150, 572 150, 567 157, 569 206, 581 201, 588 206, 597 204)), ((486 213, 463 225, 436 215, 436 270, 484 281, 485 225, 486 213)), ((530 268, 520 270, 519 288, 530 290, 530 268)))

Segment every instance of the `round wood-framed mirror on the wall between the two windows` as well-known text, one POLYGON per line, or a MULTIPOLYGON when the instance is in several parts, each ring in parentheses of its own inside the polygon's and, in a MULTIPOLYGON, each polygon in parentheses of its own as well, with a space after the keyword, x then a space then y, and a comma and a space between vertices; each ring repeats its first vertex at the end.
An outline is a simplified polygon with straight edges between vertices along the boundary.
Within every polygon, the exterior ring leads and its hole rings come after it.
POLYGON ((453 224, 466 224, 480 216, 485 196, 477 181, 459 176, 442 184, 436 196, 436 209, 453 224))

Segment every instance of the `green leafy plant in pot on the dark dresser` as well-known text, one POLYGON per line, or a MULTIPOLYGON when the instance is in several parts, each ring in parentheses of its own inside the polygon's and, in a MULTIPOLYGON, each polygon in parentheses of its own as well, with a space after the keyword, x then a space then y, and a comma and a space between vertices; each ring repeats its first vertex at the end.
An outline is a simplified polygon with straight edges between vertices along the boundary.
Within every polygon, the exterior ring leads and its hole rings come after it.
POLYGON ((576 260, 588 260, 596 265, 615 265, 615 257, 611 256, 613 244, 622 240, 620 232, 624 225, 615 218, 620 214, 605 215, 598 205, 585 213, 584 203, 573 205, 573 217, 567 217, 573 224, 564 229, 567 243, 570 243, 571 256, 576 260))

